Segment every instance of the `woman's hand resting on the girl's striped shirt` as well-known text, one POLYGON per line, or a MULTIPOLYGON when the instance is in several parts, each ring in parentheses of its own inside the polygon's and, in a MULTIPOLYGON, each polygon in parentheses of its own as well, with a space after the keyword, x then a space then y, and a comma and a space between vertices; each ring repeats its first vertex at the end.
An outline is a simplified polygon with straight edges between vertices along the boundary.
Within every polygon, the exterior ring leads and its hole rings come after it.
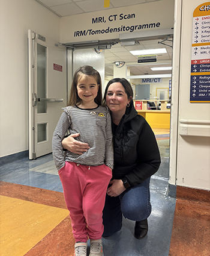
POLYGON ((74 138, 78 137, 80 134, 71 134, 70 136, 64 138, 62 140, 62 146, 63 148, 67 149, 68 151, 82 155, 83 152, 86 152, 89 149, 88 143, 79 142, 78 140, 75 140, 74 138))

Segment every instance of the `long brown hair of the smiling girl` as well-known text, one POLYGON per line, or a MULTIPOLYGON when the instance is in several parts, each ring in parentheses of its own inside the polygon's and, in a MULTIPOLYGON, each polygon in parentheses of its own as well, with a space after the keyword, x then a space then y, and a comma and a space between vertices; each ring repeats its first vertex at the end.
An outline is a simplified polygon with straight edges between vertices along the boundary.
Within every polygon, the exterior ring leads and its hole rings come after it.
POLYGON ((96 98, 94 99, 94 101, 95 101, 96 104, 101 105, 101 100, 102 100, 101 87, 102 87, 102 83, 101 83, 100 73, 96 69, 94 69, 94 67, 83 66, 83 67, 80 67, 79 69, 77 69, 76 72, 74 73, 73 81, 72 81, 72 84, 71 84, 70 96, 69 96, 69 99, 68 99, 67 106, 73 106, 73 105, 81 102, 81 99, 79 98, 78 93, 77 93, 77 84, 78 84, 78 81, 80 80, 82 75, 92 76, 93 78, 95 78, 95 81, 97 81, 97 84, 99 84, 98 94, 97 94, 96 98))

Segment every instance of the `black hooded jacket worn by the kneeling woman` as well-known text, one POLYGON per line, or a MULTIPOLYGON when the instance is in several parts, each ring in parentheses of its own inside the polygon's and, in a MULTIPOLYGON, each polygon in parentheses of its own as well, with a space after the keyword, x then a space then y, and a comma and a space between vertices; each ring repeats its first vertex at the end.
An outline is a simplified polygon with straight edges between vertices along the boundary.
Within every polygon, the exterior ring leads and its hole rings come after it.
POLYGON ((157 172, 161 160, 154 133, 137 114, 133 102, 114 132, 113 180, 126 178, 131 187, 143 183, 157 172))

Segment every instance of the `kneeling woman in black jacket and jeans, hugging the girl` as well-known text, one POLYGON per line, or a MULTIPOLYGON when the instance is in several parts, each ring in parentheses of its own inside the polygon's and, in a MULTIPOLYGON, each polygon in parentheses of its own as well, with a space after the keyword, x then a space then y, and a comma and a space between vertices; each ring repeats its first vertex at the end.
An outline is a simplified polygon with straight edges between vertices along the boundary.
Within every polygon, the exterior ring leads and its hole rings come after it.
MULTIPOLYGON (((151 127, 137 115, 133 90, 125 78, 114 78, 107 84, 104 104, 112 116, 114 168, 103 210, 103 236, 111 236, 122 227, 124 217, 136 222, 134 235, 143 239, 148 233, 151 214, 149 182, 160 166, 160 152, 151 127)), ((87 151, 86 143, 69 136, 62 145, 76 154, 87 151)))

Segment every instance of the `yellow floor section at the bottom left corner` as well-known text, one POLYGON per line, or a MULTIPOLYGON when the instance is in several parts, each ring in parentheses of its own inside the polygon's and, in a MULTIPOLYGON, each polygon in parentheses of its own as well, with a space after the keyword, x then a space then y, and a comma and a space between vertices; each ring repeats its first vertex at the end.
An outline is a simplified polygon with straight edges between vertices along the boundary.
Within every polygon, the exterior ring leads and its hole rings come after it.
POLYGON ((68 216, 68 210, 0 196, 1 256, 23 256, 68 216))

